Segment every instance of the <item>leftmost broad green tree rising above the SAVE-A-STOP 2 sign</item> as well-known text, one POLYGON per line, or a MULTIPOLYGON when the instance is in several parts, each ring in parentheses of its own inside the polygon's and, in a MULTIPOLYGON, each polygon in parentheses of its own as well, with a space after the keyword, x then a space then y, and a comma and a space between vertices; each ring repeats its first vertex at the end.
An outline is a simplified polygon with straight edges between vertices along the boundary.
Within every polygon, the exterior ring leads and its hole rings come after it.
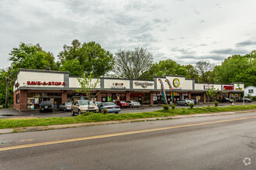
POLYGON ((50 52, 43 51, 39 44, 20 43, 19 48, 13 48, 9 53, 9 61, 12 62, 12 69, 36 69, 36 70, 57 70, 54 56, 50 52))

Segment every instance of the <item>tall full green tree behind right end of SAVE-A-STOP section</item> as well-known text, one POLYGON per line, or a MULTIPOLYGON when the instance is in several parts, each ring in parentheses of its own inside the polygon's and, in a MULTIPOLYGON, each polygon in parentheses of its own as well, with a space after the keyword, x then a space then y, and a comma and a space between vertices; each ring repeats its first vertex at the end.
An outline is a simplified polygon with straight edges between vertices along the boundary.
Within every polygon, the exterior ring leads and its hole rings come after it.
POLYGON ((71 72, 71 75, 85 76, 93 74, 104 76, 114 66, 112 54, 96 42, 81 42, 74 39, 71 46, 64 45, 64 50, 58 55, 61 63, 61 70, 71 72))

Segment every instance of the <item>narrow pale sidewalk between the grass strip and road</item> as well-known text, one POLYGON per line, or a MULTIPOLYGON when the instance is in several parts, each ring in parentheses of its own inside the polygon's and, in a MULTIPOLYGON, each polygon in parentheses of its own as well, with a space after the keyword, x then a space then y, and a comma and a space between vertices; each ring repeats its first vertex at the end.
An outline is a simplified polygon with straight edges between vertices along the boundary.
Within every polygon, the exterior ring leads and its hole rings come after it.
POLYGON ((240 111, 230 111, 230 112, 218 112, 213 114, 187 114, 187 115, 176 115, 170 117, 151 117, 151 118, 141 118, 133 120, 123 120, 123 121, 102 121, 102 122, 92 122, 92 123, 81 123, 81 124, 57 124, 49 126, 37 126, 37 127, 26 127, 26 128, 9 128, 9 129, 0 129, 0 134, 9 134, 14 132, 28 132, 28 131, 45 131, 52 129, 62 129, 62 128, 78 128, 92 125, 105 125, 105 124, 123 124, 136 121, 157 121, 157 120, 167 120, 167 119, 177 119, 185 117, 206 117, 206 116, 220 116, 228 114, 244 114, 247 112, 255 112, 256 110, 240 110, 240 111))

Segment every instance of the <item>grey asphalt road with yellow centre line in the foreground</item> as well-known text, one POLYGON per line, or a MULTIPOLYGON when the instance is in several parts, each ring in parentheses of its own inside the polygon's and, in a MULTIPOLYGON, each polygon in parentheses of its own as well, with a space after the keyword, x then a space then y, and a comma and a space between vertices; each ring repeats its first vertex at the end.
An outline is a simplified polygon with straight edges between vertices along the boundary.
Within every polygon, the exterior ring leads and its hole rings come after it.
POLYGON ((255 129, 251 112, 2 134, 0 169, 255 169, 255 129))

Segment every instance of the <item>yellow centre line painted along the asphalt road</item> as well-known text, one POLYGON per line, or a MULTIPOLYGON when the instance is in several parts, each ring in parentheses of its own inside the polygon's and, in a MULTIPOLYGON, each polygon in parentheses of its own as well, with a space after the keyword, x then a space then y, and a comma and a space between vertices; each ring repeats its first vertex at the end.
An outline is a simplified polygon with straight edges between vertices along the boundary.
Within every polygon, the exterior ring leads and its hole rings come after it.
POLYGON ((90 139, 109 138, 109 137, 115 137, 115 136, 123 136, 123 135, 127 135, 127 134, 140 134, 140 133, 145 133, 145 132, 150 132, 150 131, 162 131, 162 130, 168 130, 168 129, 173 129, 173 128, 185 128, 185 127, 199 126, 199 125, 204 125, 204 124, 217 124, 217 123, 223 123, 223 122, 229 122, 229 121, 240 121, 240 120, 246 120, 246 119, 252 119, 252 118, 256 118, 256 116, 241 117, 241 118, 228 119, 228 120, 223 120, 223 121, 208 121, 208 122, 199 123, 199 124, 185 124, 185 125, 171 126, 171 127, 166 127, 166 128, 154 128, 154 129, 147 129, 147 130, 140 130, 140 131, 126 131, 126 132, 120 132, 120 133, 116 133, 116 134, 102 134, 102 135, 89 136, 89 137, 84 137, 84 138, 71 138, 71 139, 65 139, 65 140, 60 140, 60 141, 47 141, 47 142, 28 144, 28 145, 17 145, 17 146, 0 148, 0 151, 9 151, 9 150, 14 150, 14 149, 18 149, 18 148, 32 148, 32 147, 44 146, 44 145, 54 145, 54 144, 67 143, 67 142, 71 142, 71 141, 86 141, 86 140, 90 140, 90 139))

